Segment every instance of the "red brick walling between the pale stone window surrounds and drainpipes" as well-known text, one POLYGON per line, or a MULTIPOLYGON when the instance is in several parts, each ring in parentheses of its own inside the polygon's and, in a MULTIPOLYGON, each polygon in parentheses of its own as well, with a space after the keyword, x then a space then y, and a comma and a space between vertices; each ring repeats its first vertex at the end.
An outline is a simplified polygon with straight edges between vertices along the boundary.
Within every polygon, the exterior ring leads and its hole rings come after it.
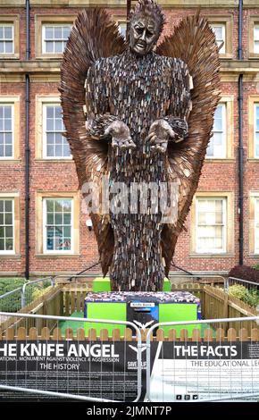
MULTIPOLYGON (((63 7, 63 8, 31 8, 30 14, 30 42, 31 42, 31 60, 35 59, 35 14, 76 14, 79 8, 63 7)), ((25 59, 26 50, 26 26, 24 9, 8 8, 3 9, 1 13, 20 13, 21 14, 21 60, 25 59)), ((124 10, 109 9, 108 13, 122 16, 125 15, 124 10)), ((192 14, 194 10, 185 8, 180 10, 174 8, 166 9, 167 24, 164 34, 171 33, 173 25, 180 21, 180 18, 186 14, 192 14)), ((232 14, 233 15, 233 58, 238 57, 238 8, 236 9, 212 9, 206 8, 202 10, 203 14, 232 14)), ((244 58, 247 55, 248 42, 248 15, 259 14, 259 10, 244 10, 244 37, 243 48, 244 58)), ((6 190, 20 191, 21 194, 21 257, 0 257, 0 273, 1 272, 17 272, 24 273, 25 266, 25 248, 24 248, 24 141, 25 141, 25 84, 24 83, 1 83, 1 95, 21 95, 21 164, 0 164, 0 192, 6 190)), ((234 156, 235 160, 228 163, 205 163, 202 176, 199 181, 198 191, 233 191, 235 206, 235 254, 233 256, 217 256, 217 257, 190 257, 190 217, 188 216, 186 228, 180 235, 174 262, 183 268, 192 271, 228 271, 233 265, 238 264, 238 83, 222 83, 221 92, 225 95, 234 95, 234 156)), ((29 105, 29 143, 30 143, 30 252, 29 252, 29 269, 31 273, 46 272, 79 272, 88 265, 96 263, 98 260, 96 240, 94 233, 89 232, 86 227, 86 216, 80 214, 80 256, 73 257, 50 257, 36 256, 36 213, 35 213, 35 197, 37 191, 71 191, 76 190, 78 186, 77 176, 73 163, 51 163, 35 161, 35 97, 37 94, 56 95, 57 83, 30 83, 30 105, 29 105)), ((259 190, 258 175, 259 163, 247 162, 247 132, 248 132, 248 115, 247 115, 247 97, 251 94, 258 94, 255 82, 244 83, 244 149, 245 149, 245 173, 244 173, 244 223, 245 223, 245 263, 255 264, 255 257, 248 256, 248 198, 249 191, 259 190)), ((98 270, 98 268, 97 268, 98 270)))

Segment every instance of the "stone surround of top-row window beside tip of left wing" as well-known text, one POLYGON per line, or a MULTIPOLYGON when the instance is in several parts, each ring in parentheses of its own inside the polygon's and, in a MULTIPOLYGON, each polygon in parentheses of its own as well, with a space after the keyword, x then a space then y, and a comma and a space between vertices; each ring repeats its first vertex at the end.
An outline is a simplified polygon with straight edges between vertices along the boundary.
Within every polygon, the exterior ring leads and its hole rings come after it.
POLYGON ((53 59, 63 57, 63 53, 45 53, 44 52, 44 39, 43 39, 43 26, 44 25, 70 25, 72 26, 76 19, 76 15, 69 14, 36 14, 35 15, 35 56, 36 59, 53 59))

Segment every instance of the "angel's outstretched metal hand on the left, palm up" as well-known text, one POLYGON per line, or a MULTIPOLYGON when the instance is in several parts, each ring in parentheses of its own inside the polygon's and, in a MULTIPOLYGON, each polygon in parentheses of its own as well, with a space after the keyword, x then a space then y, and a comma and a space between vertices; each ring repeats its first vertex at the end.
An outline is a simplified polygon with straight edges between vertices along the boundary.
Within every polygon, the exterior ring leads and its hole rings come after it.
POLYGON ((121 149, 135 148, 136 145, 130 137, 129 127, 121 121, 112 122, 104 131, 105 135, 112 136, 112 147, 121 149))

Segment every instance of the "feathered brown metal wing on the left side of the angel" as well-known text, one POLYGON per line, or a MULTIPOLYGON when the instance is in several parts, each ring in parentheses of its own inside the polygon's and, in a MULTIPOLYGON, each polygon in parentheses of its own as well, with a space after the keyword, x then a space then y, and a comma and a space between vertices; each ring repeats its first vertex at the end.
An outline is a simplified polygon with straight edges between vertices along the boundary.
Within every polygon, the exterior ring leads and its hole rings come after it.
MULTIPOLYGON (((79 13, 63 54, 59 89, 64 135, 76 164, 79 187, 88 181, 101 182, 107 169, 107 146, 103 142, 91 142, 85 126, 84 85, 88 68, 98 58, 119 55, 124 48, 125 41, 118 27, 104 10, 86 9, 79 13)), ((91 218, 105 274, 113 257, 113 231, 101 214, 91 214, 91 218)))

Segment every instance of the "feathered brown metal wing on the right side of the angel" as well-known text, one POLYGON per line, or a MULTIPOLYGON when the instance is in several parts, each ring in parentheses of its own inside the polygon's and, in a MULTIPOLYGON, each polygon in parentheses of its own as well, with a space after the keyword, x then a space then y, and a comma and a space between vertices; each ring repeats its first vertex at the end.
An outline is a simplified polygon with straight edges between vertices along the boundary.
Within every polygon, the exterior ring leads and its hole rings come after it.
POLYGON ((170 143, 168 147, 169 179, 179 184, 177 222, 165 224, 162 232, 165 273, 168 275, 212 135, 213 114, 220 99, 220 60, 213 30, 199 12, 181 21, 174 33, 164 38, 156 53, 183 60, 188 64, 193 80, 188 138, 180 143, 170 143))

